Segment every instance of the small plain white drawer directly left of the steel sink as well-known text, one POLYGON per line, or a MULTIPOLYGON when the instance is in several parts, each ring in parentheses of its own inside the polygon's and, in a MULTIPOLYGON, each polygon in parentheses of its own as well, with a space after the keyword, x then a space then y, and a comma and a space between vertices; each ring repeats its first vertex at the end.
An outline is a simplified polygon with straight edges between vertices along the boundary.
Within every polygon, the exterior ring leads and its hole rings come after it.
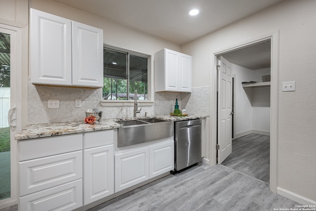
POLYGON ((102 130, 84 133, 84 149, 114 144, 114 130, 102 130))

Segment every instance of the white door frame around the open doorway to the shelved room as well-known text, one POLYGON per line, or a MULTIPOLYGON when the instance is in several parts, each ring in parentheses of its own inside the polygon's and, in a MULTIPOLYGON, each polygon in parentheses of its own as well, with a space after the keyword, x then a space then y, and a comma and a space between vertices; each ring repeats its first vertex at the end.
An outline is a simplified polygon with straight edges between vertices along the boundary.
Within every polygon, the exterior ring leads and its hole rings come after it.
POLYGON ((216 143, 217 143, 217 56, 223 53, 227 53, 236 50, 241 47, 245 47, 256 42, 264 40, 271 40, 271 111, 270 111, 270 190, 276 193, 277 187, 277 142, 278 142, 278 67, 279 67, 279 31, 271 32, 251 40, 243 41, 234 45, 226 46, 222 49, 216 50, 211 53, 211 74, 210 81, 213 83, 210 94, 210 165, 216 165, 216 143))

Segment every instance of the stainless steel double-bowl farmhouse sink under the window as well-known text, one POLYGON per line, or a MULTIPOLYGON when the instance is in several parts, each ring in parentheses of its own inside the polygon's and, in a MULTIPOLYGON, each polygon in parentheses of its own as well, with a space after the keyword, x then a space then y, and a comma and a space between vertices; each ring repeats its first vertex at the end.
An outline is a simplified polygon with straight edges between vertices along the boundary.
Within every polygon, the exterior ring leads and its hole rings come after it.
POLYGON ((173 136, 173 122, 145 119, 118 122, 118 147, 155 141, 173 136))

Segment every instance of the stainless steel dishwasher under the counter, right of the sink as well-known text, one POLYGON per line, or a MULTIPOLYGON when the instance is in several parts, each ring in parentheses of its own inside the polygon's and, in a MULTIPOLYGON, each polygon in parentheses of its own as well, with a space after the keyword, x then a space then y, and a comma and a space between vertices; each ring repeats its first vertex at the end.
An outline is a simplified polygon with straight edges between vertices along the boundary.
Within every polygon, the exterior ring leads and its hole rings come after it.
POLYGON ((201 159, 201 120, 175 122, 175 165, 176 171, 196 164, 201 159))

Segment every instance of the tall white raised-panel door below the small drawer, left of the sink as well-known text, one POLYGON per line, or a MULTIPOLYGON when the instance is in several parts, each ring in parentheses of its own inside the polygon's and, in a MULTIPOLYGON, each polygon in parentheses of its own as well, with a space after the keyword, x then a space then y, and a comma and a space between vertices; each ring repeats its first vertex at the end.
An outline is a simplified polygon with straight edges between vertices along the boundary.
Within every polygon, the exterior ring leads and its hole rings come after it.
POLYGON ((114 145, 84 150, 84 205, 114 193, 114 145))

